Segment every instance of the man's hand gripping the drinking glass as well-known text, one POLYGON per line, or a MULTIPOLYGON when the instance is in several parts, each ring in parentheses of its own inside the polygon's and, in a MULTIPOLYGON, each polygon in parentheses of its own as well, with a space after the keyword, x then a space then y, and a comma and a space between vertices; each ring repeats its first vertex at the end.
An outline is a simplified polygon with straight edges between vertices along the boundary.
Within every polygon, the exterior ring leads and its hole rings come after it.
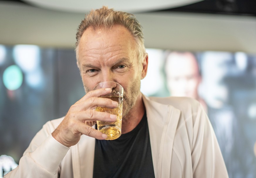
POLYGON ((102 134, 92 126, 96 124, 96 120, 104 122, 116 121, 116 115, 94 110, 97 106, 108 108, 116 108, 118 106, 116 101, 108 98, 99 98, 109 93, 111 93, 110 88, 89 91, 69 108, 65 118, 52 132, 52 136, 67 147, 77 144, 82 134, 99 140, 106 139, 106 134, 102 134))

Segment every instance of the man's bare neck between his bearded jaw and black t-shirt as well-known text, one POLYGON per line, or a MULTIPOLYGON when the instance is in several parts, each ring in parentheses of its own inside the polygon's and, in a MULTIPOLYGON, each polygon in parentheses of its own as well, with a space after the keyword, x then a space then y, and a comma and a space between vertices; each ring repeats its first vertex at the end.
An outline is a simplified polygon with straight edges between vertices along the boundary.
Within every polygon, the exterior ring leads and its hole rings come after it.
POLYGON ((122 134, 126 134, 132 131, 141 121, 145 113, 145 106, 142 100, 142 94, 140 93, 133 108, 129 113, 123 117, 122 120, 122 134))

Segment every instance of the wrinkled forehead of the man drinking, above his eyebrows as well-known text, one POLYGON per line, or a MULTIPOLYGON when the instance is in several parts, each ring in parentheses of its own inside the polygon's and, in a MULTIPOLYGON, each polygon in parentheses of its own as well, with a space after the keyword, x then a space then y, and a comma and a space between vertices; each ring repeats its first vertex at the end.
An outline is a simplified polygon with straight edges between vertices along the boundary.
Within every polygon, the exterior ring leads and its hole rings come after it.
MULTIPOLYGON (((136 44, 130 32, 122 26, 110 30, 87 29, 79 43, 79 63, 85 59, 135 59, 136 44)), ((137 59, 137 58, 136 58, 137 59)))

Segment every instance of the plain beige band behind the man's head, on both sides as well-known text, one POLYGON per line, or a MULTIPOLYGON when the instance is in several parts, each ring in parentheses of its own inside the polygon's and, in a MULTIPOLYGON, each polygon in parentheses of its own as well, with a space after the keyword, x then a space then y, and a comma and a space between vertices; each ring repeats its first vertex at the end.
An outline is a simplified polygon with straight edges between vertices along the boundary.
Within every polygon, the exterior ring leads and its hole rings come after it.
MULTIPOLYGON (((76 29, 84 13, 0 1, 0 44, 74 49, 76 29)), ((256 19, 252 16, 181 12, 134 15, 143 26, 146 48, 256 53, 256 19)))

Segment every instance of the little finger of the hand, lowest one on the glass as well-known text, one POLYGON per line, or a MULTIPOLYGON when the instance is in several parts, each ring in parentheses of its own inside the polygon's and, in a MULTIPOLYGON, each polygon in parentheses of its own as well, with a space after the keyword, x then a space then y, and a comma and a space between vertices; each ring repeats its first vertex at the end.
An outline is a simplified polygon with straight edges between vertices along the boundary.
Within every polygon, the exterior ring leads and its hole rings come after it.
POLYGON ((103 134, 103 133, 99 132, 98 130, 96 130, 92 127, 89 127, 86 124, 79 124, 78 129, 79 129, 79 132, 81 132, 82 134, 96 138, 98 140, 104 140, 107 138, 106 134, 103 134))

